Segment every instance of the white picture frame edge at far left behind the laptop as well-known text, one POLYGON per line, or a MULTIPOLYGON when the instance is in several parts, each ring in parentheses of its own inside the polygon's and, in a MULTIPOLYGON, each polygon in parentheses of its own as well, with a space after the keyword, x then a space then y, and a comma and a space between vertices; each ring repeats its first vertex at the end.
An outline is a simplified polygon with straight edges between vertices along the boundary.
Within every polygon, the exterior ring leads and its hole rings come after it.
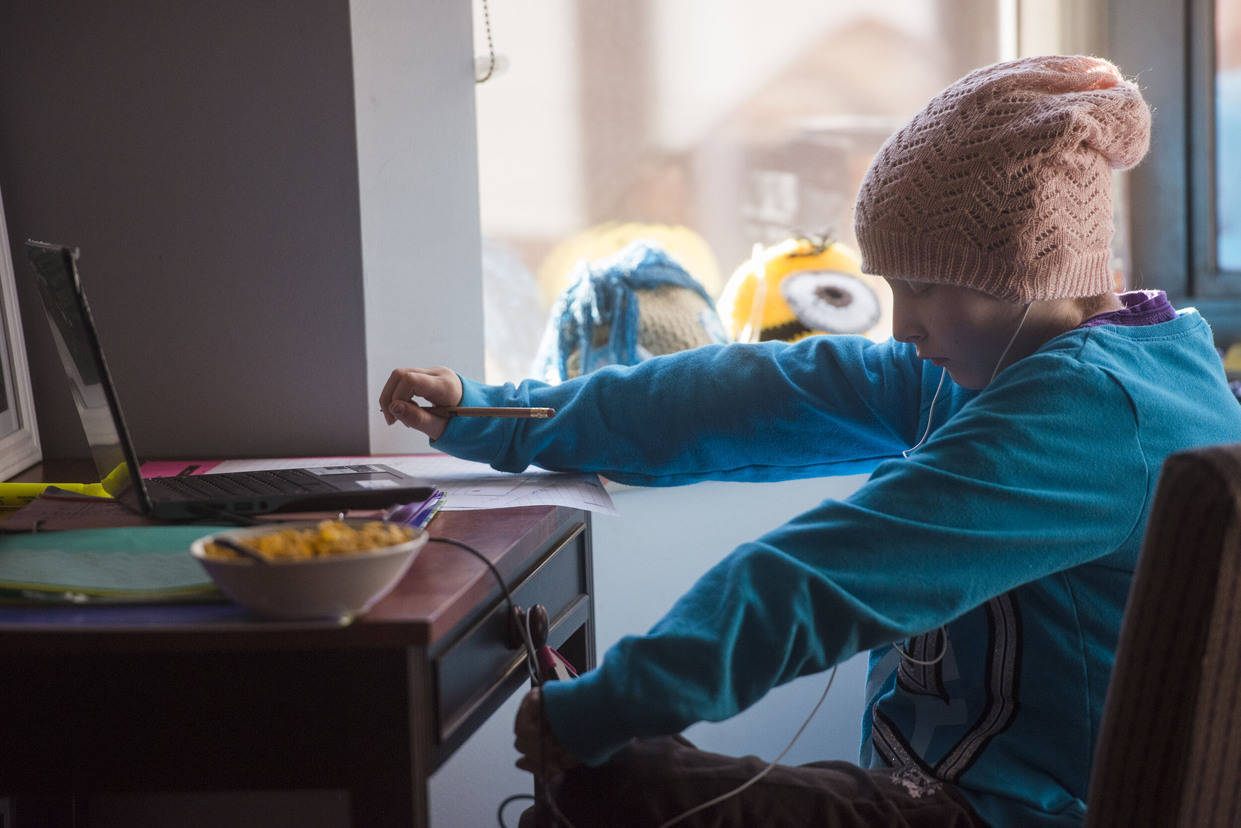
POLYGON ((7 480, 42 459, 35 397, 26 362, 26 338, 17 307, 12 248, 0 194, 0 480, 7 480))

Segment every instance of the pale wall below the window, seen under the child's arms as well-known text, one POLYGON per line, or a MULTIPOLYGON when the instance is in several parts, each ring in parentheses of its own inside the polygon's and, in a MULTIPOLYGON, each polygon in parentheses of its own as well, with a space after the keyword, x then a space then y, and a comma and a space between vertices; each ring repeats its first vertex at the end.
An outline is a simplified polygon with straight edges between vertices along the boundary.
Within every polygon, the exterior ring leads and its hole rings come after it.
MULTIPOLYGON (((818 505, 845 498, 865 475, 786 483, 699 483, 676 489, 613 492, 619 518, 594 518, 596 626, 602 653, 622 636, 650 628, 707 569, 738 544, 818 505)), ((786 762, 858 760, 866 657, 840 667, 828 700, 786 762)), ((699 724, 686 736, 704 750, 773 760, 823 693, 828 674, 772 690, 740 716, 699 724)), ((470 737, 431 780, 431 822, 438 828, 495 824, 510 793, 531 777, 513 762, 513 719, 521 693, 470 737)), ((508 811, 515 826, 521 806, 508 811)))

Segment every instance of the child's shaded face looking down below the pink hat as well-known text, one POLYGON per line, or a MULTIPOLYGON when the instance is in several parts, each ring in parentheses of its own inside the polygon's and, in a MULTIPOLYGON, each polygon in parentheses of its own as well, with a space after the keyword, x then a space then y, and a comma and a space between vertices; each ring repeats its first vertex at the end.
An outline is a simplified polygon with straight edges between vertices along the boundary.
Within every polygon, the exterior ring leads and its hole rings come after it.
MULTIPOLYGON (((892 286, 892 336, 917 346, 918 358, 948 369, 957 385, 979 390, 990 382, 1025 304, 972 288, 887 279, 892 286)), ((1026 325, 1034 322, 1033 319, 1026 325)), ((1024 329, 1023 329, 1023 333, 1024 329)), ((1014 343, 1014 351, 1020 343, 1014 343)), ((1013 362, 1013 353, 1005 362, 1013 362)))

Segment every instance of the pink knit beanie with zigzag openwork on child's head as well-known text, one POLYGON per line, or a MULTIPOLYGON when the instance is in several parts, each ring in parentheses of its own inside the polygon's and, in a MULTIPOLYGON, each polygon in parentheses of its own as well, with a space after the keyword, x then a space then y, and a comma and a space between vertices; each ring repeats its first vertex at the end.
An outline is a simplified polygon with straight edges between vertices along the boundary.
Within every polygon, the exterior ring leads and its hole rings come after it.
POLYGON ((970 72, 871 163, 854 228, 866 273, 1010 302, 1112 289, 1112 169, 1142 160, 1150 110, 1093 57, 970 72))

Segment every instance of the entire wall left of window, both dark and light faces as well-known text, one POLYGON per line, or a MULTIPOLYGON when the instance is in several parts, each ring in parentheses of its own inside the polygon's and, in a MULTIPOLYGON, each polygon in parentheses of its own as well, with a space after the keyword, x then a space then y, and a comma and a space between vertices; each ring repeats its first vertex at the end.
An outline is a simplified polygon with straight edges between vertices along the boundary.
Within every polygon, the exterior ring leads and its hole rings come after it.
POLYGON ((0 192, 45 456, 86 443, 30 237, 81 247, 143 458, 365 454, 377 376, 482 372, 469 25, 441 0, 4 2, 0 192))

